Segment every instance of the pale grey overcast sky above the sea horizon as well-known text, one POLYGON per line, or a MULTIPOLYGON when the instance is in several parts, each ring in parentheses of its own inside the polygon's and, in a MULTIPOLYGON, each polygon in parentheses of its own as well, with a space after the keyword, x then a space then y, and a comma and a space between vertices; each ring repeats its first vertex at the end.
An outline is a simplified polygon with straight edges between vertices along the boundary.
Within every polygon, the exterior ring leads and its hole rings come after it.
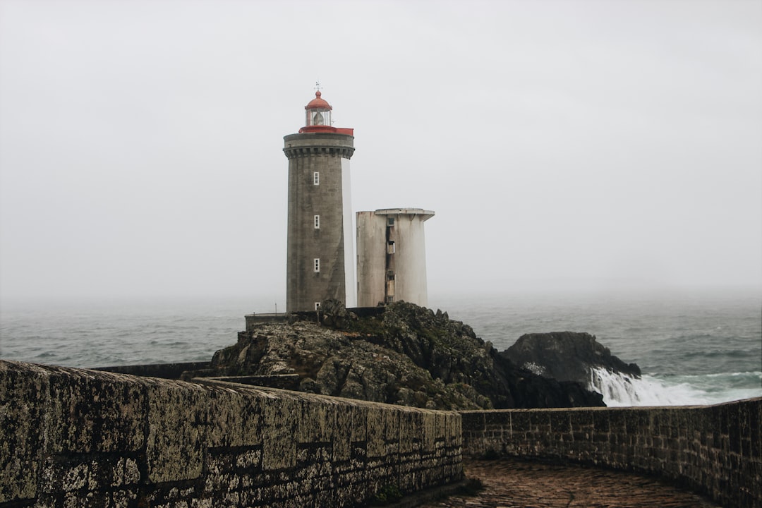
POLYGON ((757 0, 0 0, 0 297, 283 302, 318 80, 430 299, 762 287, 757 0))

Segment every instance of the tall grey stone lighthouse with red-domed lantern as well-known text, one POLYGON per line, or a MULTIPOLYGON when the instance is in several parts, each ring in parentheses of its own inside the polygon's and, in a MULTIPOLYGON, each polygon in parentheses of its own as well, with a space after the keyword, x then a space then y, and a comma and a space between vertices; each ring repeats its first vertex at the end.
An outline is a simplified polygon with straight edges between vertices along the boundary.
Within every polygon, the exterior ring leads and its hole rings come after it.
POLYGON ((349 159, 354 129, 331 125, 320 91, 305 125, 285 136, 288 158, 286 312, 313 311, 325 299, 357 305, 349 159))

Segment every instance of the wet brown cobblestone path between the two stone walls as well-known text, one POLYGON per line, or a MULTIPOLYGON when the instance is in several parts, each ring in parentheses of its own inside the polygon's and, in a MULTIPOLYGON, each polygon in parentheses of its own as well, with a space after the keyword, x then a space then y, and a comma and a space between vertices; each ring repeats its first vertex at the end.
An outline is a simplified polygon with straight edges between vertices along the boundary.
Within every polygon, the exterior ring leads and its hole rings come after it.
POLYGON ((719 506, 705 497, 639 474, 549 465, 511 459, 464 462, 468 478, 485 486, 475 497, 459 495, 428 508, 593 508, 594 506, 688 508, 719 506))

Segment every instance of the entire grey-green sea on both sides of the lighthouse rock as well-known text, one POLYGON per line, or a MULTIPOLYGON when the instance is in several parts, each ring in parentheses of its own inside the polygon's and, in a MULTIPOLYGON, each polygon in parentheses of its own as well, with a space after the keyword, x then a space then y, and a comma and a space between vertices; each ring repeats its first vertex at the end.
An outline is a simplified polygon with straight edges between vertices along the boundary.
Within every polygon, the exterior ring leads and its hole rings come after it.
MULTIPOLYGON (((3 302, 0 359, 82 368, 207 361, 235 343, 244 315, 278 307, 251 297, 3 302)), ((639 379, 591 372, 588 387, 609 406, 762 397, 758 291, 430 295, 429 307, 498 350, 527 333, 593 334, 642 370, 639 379)))

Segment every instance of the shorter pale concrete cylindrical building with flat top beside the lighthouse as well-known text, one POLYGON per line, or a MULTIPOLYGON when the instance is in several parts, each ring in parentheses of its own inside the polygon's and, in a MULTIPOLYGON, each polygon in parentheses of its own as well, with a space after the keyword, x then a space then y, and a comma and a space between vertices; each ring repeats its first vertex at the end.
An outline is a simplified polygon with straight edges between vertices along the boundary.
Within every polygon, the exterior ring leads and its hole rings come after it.
POLYGON ((434 212, 357 212, 357 306, 404 300, 428 305, 424 221, 434 212))

